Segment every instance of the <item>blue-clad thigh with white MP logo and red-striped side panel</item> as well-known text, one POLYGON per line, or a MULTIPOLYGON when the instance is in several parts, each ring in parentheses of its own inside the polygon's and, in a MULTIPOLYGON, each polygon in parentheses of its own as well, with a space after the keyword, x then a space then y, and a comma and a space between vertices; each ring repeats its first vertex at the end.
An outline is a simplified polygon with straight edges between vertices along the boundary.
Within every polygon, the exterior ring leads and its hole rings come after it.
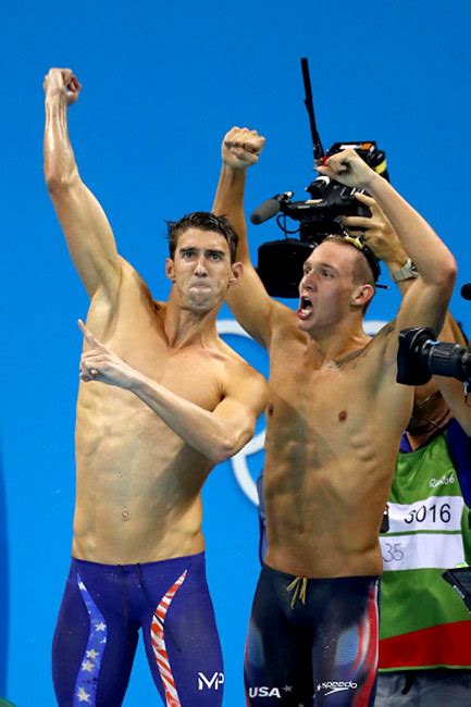
POLYGON ((203 557, 188 558, 186 567, 185 562, 175 566, 163 592, 156 593, 152 571, 142 569, 149 595, 144 642, 165 704, 220 707, 224 667, 203 557))

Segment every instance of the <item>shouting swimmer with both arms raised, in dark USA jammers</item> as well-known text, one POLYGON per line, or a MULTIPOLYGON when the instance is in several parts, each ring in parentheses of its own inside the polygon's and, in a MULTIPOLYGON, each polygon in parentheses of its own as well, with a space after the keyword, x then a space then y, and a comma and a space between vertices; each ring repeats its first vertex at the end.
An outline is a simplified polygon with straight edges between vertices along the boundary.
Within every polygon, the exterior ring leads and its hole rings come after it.
POLYGON ((311 704, 314 694, 317 705, 372 705, 379 529, 413 395, 396 383, 397 334, 425 322, 442 326, 456 265, 426 222, 346 150, 329 157, 319 172, 376 197, 422 277, 397 320, 372 339, 363 317, 376 263, 355 239, 326 239, 314 248, 297 312, 274 301, 250 262, 243 207, 246 169, 261 145, 245 128, 225 136, 214 201, 214 211, 228 215, 238 232, 245 264, 246 281, 230 306, 269 350, 271 363, 268 553, 247 642, 247 704, 274 704, 259 687, 271 685, 278 691, 276 704, 286 707, 311 704))

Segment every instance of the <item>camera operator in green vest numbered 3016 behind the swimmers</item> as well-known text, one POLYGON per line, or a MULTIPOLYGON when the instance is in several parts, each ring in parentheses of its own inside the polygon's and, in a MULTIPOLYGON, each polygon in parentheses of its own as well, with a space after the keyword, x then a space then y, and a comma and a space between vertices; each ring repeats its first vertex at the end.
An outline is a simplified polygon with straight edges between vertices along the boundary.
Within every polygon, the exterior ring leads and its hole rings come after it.
MULTIPOLYGON (((379 206, 368 196, 358 199, 372 218, 345 218, 344 225, 352 233, 364 230, 404 296, 417 270, 379 206)), ((450 314, 439 338, 467 344, 450 314)), ((376 707, 470 700, 471 616, 442 579, 444 569, 470 560, 470 418, 459 381, 436 376, 416 387, 385 516, 389 530, 381 537, 376 707)))

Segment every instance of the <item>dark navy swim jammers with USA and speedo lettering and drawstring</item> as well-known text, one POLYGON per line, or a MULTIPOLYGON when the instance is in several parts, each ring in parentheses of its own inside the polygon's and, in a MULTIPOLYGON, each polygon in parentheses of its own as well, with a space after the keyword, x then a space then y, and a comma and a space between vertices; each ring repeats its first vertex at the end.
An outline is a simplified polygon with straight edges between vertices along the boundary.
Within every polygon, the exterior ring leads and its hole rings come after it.
POLYGON ((371 707, 377 576, 305 579, 263 566, 246 645, 252 707, 371 707))

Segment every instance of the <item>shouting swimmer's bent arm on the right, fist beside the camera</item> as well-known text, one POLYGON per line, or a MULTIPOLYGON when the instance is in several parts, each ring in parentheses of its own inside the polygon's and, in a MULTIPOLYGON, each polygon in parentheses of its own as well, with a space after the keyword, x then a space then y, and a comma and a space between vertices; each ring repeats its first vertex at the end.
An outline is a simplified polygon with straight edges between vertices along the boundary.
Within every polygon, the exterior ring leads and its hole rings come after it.
MULTIPOLYGON (((383 177, 354 151, 330 157, 321 174, 348 186, 367 189, 391 221, 401 247, 416 263, 420 277, 410 286, 396 319, 396 331, 431 326, 439 331, 456 278, 456 262, 424 219, 383 177)), ((391 345, 395 355, 397 342, 391 345)))

